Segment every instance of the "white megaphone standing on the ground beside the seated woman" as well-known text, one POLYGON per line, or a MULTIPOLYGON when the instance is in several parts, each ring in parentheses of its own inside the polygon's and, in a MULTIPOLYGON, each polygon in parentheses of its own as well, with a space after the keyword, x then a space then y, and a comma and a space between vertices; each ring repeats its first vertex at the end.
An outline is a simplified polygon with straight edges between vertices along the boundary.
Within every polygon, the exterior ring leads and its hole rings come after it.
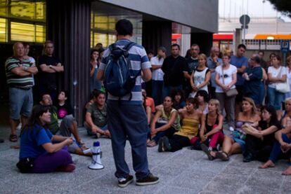
POLYGON ((89 169, 103 169, 104 165, 102 165, 101 157, 102 157, 102 151, 100 147, 99 141, 95 141, 93 143, 93 147, 84 150, 84 153, 92 153, 92 162, 91 165, 89 165, 89 169))

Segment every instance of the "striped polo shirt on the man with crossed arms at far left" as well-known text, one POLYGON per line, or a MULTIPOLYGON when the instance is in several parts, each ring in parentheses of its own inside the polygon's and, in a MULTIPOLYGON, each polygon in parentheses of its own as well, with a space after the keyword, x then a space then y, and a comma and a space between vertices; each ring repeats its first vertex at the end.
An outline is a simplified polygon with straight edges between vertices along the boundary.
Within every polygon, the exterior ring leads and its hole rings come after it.
POLYGON ((34 79, 33 76, 18 76, 12 73, 15 67, 31 67, 30 60, 19 60, 16 57, 9 57, 5 62, 6 78, 9 87, 11 88, 32 88, 34 79))

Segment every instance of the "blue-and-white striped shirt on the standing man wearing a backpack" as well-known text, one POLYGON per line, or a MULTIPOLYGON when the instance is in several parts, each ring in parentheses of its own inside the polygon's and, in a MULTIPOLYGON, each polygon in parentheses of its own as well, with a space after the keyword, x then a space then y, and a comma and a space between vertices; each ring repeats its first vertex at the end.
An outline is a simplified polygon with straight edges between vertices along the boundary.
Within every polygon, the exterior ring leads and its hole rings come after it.
MULTIPOLYGON (((116 46, 123 48, 129 43, 129 40, 122 39, 116 42, 116 46)), ((105 70, 106 65, 108 64, 108 56, 110 55, 109 48, 105 50, 104 55, 101 60, 99 69, 105 70)), ((133 74, 138 74, 141 69, 150 69, 151 64, 148 60, 148 55, 146 55, 145 49, 143 46, 135 45, 129 49, 129 60, 130 67, 129 71, 133 74)), ((125 95, 121 98, 122 104, 131 104, 131 105, 140 105, 142 104, 142 95, 141 95, 141 75, 136 78, 136 85, 131 90, 131 100, 129 101, 130 95, 125 95)), ((108 94, 108 100, 119 100, 119 97, 108 94)))

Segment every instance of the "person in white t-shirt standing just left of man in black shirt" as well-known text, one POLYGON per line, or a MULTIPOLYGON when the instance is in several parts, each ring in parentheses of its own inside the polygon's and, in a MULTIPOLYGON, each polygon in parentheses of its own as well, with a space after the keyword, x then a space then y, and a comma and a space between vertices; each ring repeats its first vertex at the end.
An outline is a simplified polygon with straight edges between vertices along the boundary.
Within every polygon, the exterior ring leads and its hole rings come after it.
POLYGON ((155 104, 162 104, 162 86, 164 84, 164 72, 162 71, 162 63, 166 57, 166 48, 161 46, 157 48, 157 56, 152 57, 150 63, 153 69, 152 78, 152 96, 155 100, 155 104))

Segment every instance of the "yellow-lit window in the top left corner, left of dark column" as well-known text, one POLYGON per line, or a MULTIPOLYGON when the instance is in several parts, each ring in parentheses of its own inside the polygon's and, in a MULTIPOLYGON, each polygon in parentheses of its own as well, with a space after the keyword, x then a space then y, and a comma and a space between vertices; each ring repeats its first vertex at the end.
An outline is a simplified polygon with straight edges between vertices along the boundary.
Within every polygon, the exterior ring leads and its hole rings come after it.
POLYGON ((46 38, 45 22, 46 1, 0 0, 0 42, 42 43, 46 38))

